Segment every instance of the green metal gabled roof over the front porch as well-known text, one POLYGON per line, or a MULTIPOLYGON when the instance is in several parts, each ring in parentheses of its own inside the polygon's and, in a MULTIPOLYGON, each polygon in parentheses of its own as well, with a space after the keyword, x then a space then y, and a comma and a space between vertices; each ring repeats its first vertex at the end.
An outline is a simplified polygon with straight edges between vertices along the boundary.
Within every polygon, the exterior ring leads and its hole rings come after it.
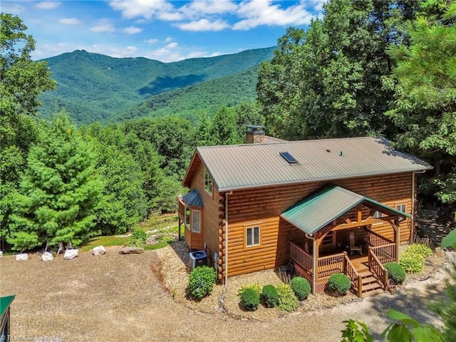
POLYGON ((385 212, 397 214, 400 217, 411 217, 405 212, 400 212, 369 197, 336 185, 321 188, 302 202, 286 209, 280 216, 303 232, 313 235, 361 203, 369 207, 378 207, 380 211, 384 209, 385 212))

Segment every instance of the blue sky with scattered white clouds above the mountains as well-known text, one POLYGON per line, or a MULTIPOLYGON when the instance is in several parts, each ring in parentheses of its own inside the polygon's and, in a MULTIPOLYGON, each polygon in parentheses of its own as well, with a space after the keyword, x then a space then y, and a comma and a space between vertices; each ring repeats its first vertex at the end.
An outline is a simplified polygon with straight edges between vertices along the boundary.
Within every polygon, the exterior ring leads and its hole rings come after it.
POLYGON ((4 1, 36 40, 33 59, 83 49, 172 62, 275 46, 321 16, 323 0, 4 1))

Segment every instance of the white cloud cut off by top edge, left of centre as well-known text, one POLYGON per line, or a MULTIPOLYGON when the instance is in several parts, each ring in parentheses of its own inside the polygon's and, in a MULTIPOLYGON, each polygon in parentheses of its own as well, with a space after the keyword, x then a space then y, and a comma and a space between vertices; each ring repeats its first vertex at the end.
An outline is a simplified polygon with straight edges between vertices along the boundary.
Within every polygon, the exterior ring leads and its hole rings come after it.
POLYGON ((126 19, 133 19, 135 17, 151 19, 157 14, 172 13, 174 11, 174 6, 165 0, 109 1, 109 6, 116 11, 122 11, 122 16, 126 19))

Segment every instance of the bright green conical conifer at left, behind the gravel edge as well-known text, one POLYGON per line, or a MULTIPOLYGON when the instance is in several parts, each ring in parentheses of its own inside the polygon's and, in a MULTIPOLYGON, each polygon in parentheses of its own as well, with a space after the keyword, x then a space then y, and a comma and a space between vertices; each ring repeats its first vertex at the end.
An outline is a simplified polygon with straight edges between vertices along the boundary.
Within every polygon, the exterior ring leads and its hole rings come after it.
POLYGON ((11 215, 9 244, 19 251, 63 242, 81 244, 95 222, 103 182, 95 155, 68 115, 61 113, 31 147, 11 215))

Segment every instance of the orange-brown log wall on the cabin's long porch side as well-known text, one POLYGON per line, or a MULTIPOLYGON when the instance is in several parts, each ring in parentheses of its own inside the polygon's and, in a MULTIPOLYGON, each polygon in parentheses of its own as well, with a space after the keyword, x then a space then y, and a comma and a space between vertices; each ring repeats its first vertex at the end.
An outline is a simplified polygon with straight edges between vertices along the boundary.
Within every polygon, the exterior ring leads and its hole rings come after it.
MULTIPOLYGON (((204 180, 204 174, 202 176, 199 175, 199 177, 204 180)), ((406 212, 411 214, 411 172, 334 180, 332 183, 375 199, 389 207, 395 208, 397 204, 404 203, 406 204, 406 212)), ((289 261, 289 241, 302 246, 305 235, 299 229, 281 219, 280 214, 325 184, 326 182, 310 182, 301 185, 264 187, 234 191, 232 195, 229 195, 228 275, 246 274, 286 264, 289 261), (261 247, 246 248, 244 245, 244 230, 246 226, 252 227, 252 224, 261 227, 261 247)), ((223 201, 220 201, 220 203, 223 204, 223 201)), ((216 207, 212 207, 211 210, 214 209, 216 207)), ((207 211, 209 210, 207 210, 204 203, 204 218, 207 211)), ((368 217, 369 212, 370 209, 363 208, 363 218, 368 217)), ((351 217, 352 221, 355 221, 356 209, 351 210, 344 216, 351 217)), ((212 222, 214 222, 215 227, 217 219, 212 217, 212 222)), ((218 221, 219 227, 217 231, 223 232, 221 223, 218 221)), ((208 229, 207 225, 204 228, 208 229)), ((393 239, 393 228, 388 223, 379 222, 379 224, 373 225, 372 229, 388 239, 393 239)), ((212 231, 212 228, 210 230, 212 231)), ((213 234, 211 234, 211 238, 213 238, 213 234)), ((404 219, 400 222, 400 241, 408 242, 409 239, 410 219, 404 219)), ((222 237, 221 241, 219 252, 221 260, 224 262, 224 237, 222 237)))

